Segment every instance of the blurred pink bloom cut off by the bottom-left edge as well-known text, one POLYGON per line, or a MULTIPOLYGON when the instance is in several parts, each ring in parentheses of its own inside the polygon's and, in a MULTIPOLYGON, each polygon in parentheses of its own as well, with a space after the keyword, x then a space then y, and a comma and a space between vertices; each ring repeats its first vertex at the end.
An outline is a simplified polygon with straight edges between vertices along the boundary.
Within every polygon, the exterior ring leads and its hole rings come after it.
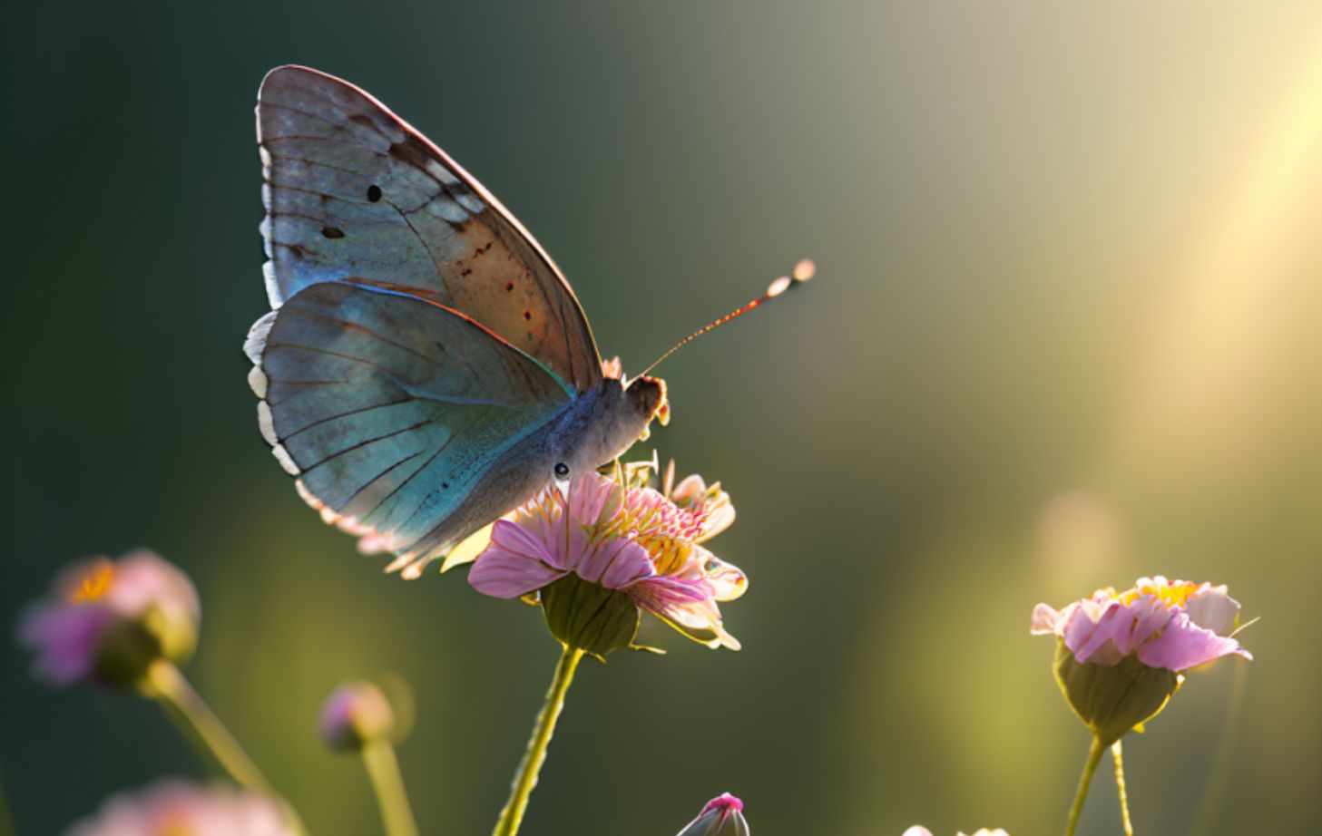
POLYGON ((295 836, 280 806, 264 795, 178 779, 111 796, 65 836, 295 836))

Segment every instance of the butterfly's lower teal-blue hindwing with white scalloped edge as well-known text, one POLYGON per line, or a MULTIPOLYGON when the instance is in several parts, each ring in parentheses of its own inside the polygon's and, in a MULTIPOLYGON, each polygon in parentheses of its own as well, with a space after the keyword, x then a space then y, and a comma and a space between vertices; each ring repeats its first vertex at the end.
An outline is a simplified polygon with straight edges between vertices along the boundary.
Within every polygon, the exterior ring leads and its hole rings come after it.
POLYGON ((262 435, 300 494, 411 573, 550 477, 533 438, 574 398, 473 320, 358 281, 295 293, 245 350, 262 435), (512 456, 513 478, 493 473, 512 456))

